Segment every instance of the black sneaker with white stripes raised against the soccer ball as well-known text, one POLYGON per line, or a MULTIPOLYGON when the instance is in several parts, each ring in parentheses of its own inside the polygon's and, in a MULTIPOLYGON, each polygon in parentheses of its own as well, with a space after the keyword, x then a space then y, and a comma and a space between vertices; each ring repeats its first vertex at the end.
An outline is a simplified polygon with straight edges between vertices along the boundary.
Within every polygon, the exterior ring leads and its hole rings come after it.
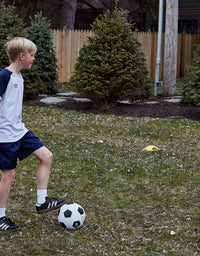
POLYGON ((36 204, 37 213, 45 213, 60 208, 66 203, 65 199, 49 198, 46 196, 46 201, 43 204, 36 204))

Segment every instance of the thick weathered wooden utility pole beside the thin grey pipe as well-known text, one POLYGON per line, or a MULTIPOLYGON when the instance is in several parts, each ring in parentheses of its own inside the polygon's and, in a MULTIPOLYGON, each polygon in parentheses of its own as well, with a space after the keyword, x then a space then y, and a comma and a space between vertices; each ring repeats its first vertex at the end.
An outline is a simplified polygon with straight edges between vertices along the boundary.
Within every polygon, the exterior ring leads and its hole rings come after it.
POLYGON ((176 93, 178 0, 166 0, 163 95, 176 93))

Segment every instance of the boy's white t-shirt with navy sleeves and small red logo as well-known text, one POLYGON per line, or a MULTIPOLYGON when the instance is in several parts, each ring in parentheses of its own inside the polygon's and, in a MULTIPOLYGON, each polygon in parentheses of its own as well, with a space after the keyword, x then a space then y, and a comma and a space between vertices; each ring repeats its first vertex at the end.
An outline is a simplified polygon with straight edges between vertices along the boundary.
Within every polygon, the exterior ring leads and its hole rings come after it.
POLYGON ((0 71, 0 143, 18 141, 28 131, 22 122, 23 92, 21 74, 0 71))

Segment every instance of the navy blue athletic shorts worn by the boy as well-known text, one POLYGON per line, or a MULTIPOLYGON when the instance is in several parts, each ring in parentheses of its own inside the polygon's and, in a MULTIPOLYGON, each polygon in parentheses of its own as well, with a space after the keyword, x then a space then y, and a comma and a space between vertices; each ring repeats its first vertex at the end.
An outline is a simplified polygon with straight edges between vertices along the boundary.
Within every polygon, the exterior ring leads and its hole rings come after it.
POLYGON ((43 144, 39 138, 30 131, 16 142, 0 143, 0 169, 15 169, 17 159, 23 160, 42 146, 43 144))

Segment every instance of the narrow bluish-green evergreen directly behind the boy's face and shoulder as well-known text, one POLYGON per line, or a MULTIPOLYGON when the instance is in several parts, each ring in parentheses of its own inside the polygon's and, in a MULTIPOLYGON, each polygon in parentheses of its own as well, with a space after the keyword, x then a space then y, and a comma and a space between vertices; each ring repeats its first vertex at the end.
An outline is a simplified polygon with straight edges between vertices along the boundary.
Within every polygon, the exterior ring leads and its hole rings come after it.
POLYGON ((31 20, 27 38, 37 45, 37 52, 32 69, 24 72, 25 98, 35 98, 39 93, 57 92, 57 60, 50 23, 41 13, 31 20))

